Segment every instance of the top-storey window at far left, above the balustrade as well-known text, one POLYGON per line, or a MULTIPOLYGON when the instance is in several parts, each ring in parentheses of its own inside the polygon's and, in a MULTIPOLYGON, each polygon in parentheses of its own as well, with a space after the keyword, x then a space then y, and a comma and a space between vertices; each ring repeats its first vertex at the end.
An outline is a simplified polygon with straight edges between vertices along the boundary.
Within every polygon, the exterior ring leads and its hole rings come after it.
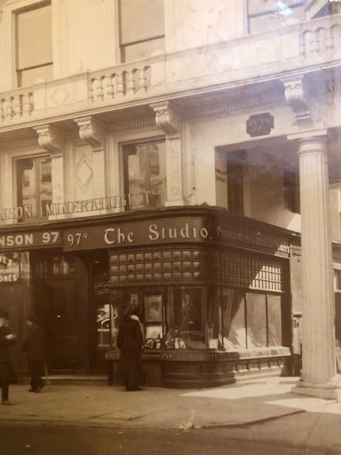
POLYGON ((16 15, 16 75, 18 87, 53 78, 50 4, 16 15))

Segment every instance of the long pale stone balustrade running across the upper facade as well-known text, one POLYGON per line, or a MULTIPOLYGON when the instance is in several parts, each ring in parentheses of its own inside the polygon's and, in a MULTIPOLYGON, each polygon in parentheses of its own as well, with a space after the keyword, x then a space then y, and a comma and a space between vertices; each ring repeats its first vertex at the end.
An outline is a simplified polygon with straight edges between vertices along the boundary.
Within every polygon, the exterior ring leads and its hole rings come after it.
POLYGON ((32 87, 0 92, 0 131, 13 125, 74 118, 92 109, 132 105, 170 93, 206 91, 221 85, 249 84, 254 75, 280 78, 311 65, 341 58, 341 14, 296 23, 183 52, 155 55, 134 63, 80 73, 32 87))

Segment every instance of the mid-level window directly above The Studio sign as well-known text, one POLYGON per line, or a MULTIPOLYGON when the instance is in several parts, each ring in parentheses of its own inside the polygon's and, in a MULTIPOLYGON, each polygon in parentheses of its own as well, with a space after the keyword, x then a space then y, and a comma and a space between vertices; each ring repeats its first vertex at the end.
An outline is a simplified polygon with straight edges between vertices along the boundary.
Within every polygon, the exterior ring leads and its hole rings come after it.
POLYGON ((161 207, 166 202, 164 141, 123 147, 126 208, 161 207))

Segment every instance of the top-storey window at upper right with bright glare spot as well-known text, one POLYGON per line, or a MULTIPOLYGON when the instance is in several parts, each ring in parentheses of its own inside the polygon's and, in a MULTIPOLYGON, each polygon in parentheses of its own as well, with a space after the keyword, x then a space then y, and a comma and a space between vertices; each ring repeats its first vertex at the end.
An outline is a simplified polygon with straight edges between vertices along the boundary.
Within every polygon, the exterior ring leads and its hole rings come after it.
POLYGON ((305 1, 303 0, 248 0, 249 33, 305 21, 305 1))

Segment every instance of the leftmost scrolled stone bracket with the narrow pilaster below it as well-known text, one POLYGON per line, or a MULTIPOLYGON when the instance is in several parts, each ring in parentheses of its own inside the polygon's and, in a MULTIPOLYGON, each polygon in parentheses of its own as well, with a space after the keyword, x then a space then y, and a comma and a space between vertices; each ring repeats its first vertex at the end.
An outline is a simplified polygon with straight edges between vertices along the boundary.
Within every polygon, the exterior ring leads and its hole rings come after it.
POLYGON ((63 150, 65 136, 63 131, 53 125, 42 125, 34 128, 38 133, 38 144, 42 149, 50 152, 52 159, 52 207, 51 215, 57 218, 64 218, 65 215, 58 215, 58 206, 65 202, 64 188, 64 158, 63 150))

